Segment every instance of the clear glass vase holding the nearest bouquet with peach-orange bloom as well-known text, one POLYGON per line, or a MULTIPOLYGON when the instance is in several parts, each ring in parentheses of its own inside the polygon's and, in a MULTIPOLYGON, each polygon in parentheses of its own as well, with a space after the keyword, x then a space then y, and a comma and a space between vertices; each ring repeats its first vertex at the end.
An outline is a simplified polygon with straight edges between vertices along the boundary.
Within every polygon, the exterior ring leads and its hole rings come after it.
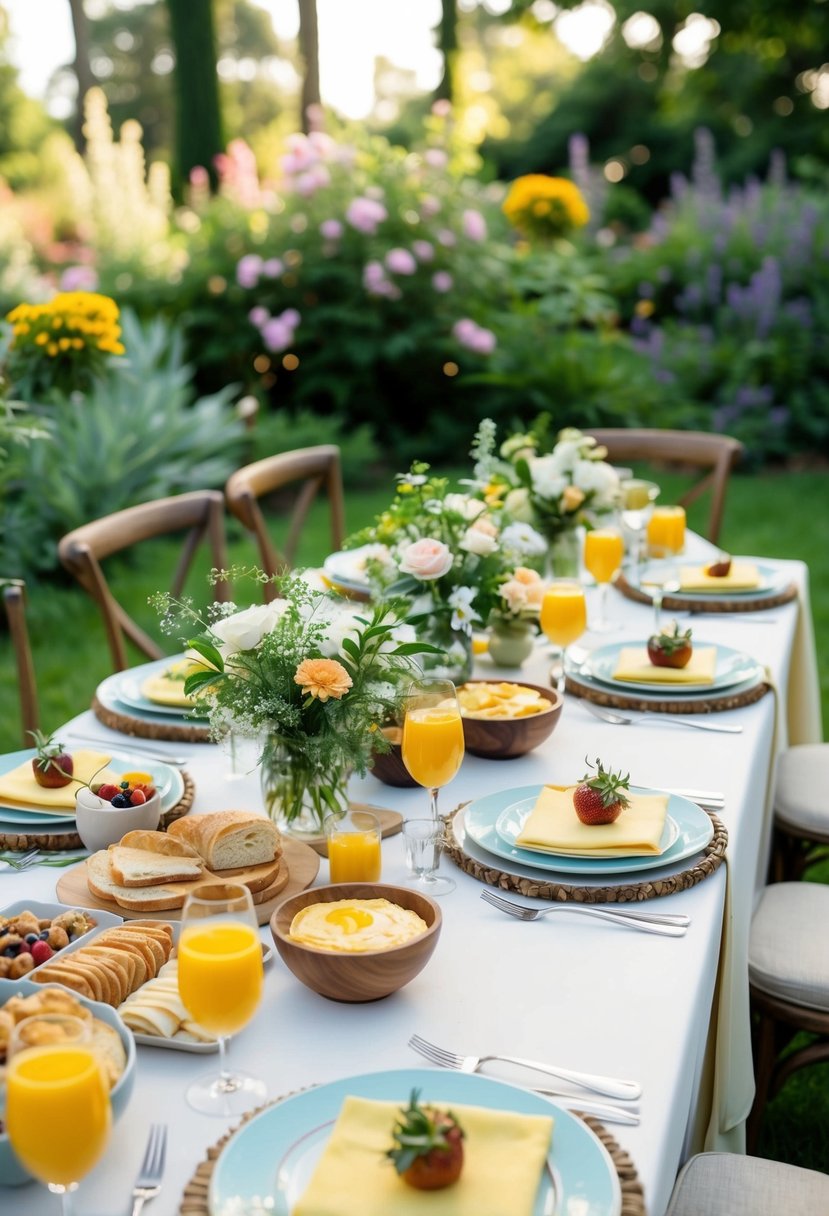
POLYGON ((260 761, 265 810, 288 835, 320 835, 327 816, 348 811, 350 773, 350 765, 320 772, 309 764, 301 743, 271 737, 260 761))

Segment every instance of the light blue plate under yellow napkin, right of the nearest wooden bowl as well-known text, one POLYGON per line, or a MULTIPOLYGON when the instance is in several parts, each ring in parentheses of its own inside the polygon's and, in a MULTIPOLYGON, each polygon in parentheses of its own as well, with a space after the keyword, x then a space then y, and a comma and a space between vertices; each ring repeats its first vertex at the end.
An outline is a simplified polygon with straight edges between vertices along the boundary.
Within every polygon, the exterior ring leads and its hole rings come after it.
MULTIPOLYGON (((676 837, 665 852, 647 854, 638 857, 571 857, 552 852, 536 852, 534 849, 521 849, 512 841, 520 832, 535 800, 543 789, 542 786, 521 786, 517 789, 502 789, 495 794, 476 798, 464 807, 463 826, 475 844, 496 857, 531 866, 535 869, 551 869, 558 874, 626 874, 637 869, 655 869, 658 866, 671 866, 700 852, 714 835, 714 824, 705 811, 677 794, 669 794, 667 818, 673 828, 666 827, 662 834, 669 840, 673 831, 676 837)), ((659 790, 631 786, 635 794, 658 794, 659 790)), ((575 811, 573 812, 575 815, 575 811)))

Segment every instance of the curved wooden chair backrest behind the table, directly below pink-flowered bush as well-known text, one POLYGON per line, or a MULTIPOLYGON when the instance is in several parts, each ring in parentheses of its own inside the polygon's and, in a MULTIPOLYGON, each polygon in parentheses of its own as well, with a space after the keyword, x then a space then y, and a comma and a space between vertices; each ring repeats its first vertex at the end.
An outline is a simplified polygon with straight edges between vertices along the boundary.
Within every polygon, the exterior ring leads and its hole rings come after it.
MULTIPOLYGON (((227 507, 256 537, 261 568, 266 574, 278 574, 294 564, 303 525, 320 490, 325 490, 328 496, 331 547, 334 551, 342 547, 345 535, 343 477, 339 447, 334 444, 298 447, 294 451, 266 456, 265 460, 237 469, 229 478, 225 486, 227 507), (287 537, 280 552, 269 534, 259 500, 298 483, 301 485, 293 501, 287 537)), ((265 598, 273 599, 275 596, 273 585, 265 584, 265 598)))

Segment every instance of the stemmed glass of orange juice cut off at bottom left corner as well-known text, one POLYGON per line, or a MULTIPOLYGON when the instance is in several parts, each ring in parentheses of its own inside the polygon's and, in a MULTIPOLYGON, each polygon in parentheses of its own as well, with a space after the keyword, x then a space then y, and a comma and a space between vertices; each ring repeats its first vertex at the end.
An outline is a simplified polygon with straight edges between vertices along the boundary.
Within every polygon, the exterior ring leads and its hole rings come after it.
POLYGON ((92 1047, 91 1019, 38 1014, 18 1021, 9 1042, 6 1126, 30 1173, 61 1197, 96 1165, 112 1126, 109 1082, 92 1047))

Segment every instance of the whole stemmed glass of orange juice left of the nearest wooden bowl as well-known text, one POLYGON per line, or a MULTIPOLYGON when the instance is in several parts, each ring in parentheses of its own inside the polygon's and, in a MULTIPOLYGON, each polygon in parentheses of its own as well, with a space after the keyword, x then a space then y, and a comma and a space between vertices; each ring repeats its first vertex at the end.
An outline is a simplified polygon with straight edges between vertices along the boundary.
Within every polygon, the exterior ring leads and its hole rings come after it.
POLYGON ((219 1037, 219 1075, 193 1081, 187 1102, 205 1115, 239 1115, 261 1103, 265 1083, 227 1069, 229 1035, 247 1026, 263 991, 259 924, 241 883, 199 883, 185 900, 179 996, 193 1021, 219 1037))

